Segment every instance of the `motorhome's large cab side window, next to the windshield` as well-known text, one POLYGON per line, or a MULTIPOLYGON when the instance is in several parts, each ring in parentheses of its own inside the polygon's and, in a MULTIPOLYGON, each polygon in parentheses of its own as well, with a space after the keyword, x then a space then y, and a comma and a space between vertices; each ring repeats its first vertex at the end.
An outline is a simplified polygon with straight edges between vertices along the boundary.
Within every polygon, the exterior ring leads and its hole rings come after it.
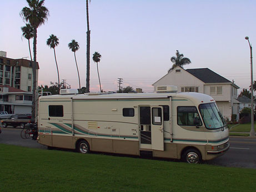
POLYGON ((177 112, 178 125, 202 125, 196 107, 177 107, 177 112))

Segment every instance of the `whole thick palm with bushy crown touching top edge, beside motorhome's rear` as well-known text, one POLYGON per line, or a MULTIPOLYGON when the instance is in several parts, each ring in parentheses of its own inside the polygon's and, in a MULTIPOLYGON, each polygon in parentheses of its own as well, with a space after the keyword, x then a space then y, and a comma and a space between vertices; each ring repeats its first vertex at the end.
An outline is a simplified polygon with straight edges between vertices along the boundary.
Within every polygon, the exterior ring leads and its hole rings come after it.
POLYGON ((46 22, 49 11, 43 6, 44 0, 27 0, 28 7, 23 7, 21 17, 24 21, 29 22, 33 27, 33 52, 34 62, 33 69, 33 95, 32 95, 32 118, 36 118, 36 89, 37 89, 37 28, 46 22))

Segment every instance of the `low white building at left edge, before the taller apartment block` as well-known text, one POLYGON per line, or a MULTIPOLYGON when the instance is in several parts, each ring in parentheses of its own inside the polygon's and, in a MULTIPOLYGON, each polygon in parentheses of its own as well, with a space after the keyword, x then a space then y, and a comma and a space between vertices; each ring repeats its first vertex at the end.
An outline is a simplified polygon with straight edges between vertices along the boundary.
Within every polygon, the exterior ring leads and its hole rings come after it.
POLYGON ((31 113, 32 93, 24 90, 0 85, 0 110, 8 113, 31 113))

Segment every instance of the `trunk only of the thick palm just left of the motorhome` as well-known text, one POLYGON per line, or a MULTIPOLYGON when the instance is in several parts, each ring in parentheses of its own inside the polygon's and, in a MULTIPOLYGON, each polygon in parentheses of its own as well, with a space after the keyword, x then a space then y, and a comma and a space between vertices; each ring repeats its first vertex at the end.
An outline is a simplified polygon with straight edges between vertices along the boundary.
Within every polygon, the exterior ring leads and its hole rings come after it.
POLYGON ((36 119, 36 90, 37 90, 37 28, 34 27, 34 41, 33 41, 34 62, 32 65, 33 72, 33 94, 32 94, 32 119, 36 119))

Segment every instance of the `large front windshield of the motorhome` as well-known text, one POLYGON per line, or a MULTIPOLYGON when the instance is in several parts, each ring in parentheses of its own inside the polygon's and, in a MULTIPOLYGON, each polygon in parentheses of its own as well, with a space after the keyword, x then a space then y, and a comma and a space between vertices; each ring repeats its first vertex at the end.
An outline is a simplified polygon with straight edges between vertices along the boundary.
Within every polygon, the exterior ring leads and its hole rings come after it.
POLYGON ((207 129, 219 129, 225 127, 226 123, 224 118, 215 103, 200 104, 199 110, 207 129))

